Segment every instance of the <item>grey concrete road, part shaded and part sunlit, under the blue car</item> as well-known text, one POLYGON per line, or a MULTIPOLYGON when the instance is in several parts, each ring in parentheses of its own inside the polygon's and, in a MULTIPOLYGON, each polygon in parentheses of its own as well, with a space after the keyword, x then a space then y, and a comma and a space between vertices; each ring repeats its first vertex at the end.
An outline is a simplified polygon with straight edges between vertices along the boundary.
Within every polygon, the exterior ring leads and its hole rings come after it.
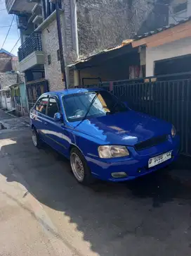
POLYGON ((58 153, 37 150, 27 129, 1 131, 0 147, 0 255, 191 255, 185 162, 87 188, 58 153))

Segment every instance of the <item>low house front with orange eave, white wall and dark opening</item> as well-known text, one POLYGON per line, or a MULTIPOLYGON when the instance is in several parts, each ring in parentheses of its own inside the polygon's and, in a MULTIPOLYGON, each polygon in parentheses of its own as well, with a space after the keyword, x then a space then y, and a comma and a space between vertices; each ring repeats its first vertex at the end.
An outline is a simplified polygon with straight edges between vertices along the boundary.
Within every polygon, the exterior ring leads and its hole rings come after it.
POLYGON ((190 75, 191 18, 142 35, 132 44, 145 51, 147 77, 190 75))

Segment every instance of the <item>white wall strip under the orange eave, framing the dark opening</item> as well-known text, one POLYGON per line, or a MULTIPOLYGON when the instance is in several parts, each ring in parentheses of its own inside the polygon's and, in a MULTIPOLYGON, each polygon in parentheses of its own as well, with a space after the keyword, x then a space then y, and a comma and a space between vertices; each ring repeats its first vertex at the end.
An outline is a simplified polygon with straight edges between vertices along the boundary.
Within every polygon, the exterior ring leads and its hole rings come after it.
POLYGON ((154 75, 154 61, 191 54, 191 37, 146 49, 146 76, 154 75))

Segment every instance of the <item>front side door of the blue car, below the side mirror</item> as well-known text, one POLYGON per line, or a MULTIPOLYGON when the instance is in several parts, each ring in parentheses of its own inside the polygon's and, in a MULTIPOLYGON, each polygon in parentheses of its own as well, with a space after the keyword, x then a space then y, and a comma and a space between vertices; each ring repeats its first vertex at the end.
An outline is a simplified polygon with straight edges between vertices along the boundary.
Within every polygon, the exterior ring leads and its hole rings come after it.
POLYGON ((55 113, 62 114, 60 110, 60 102, 56 95, 50 95, 48 99, 46 122, 44 123, 46 142, 55 150, 65 154, 67 150, 65 146, 65 140, 67 140, 67 137, 64 135, 65 126, 62 120, 55 121, 55 113))

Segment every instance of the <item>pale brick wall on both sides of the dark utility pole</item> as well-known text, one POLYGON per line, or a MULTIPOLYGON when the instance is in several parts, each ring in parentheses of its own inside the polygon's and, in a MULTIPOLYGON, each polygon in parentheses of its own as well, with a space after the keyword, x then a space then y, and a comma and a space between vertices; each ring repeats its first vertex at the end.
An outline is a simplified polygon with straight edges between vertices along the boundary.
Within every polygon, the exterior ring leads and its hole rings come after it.
MULTIPOLYGON (((77 59, 76 51, 74 51, 74 38, 72 35, 71 18, 74 12, 71 10, 70 1, 62 0, 63 13, 60 14, 60 25, 62 31, 62 45, 65 56, 65 65, 73 63, 77 59)), ((45 54, 45 75, 49 83, 49 89, 62 90, 63 82, 61 77, 60 61, 57 58, 58 32, 56 19, 52 21, 41 33, 42 49, 45 54), (48 55, 51 54, 51 64, 48 65, 48 55)), ((69 85, 74 83, 72 75, 69 75, 69 85), (71 80, 70 80, 71 78, 71 80)))

